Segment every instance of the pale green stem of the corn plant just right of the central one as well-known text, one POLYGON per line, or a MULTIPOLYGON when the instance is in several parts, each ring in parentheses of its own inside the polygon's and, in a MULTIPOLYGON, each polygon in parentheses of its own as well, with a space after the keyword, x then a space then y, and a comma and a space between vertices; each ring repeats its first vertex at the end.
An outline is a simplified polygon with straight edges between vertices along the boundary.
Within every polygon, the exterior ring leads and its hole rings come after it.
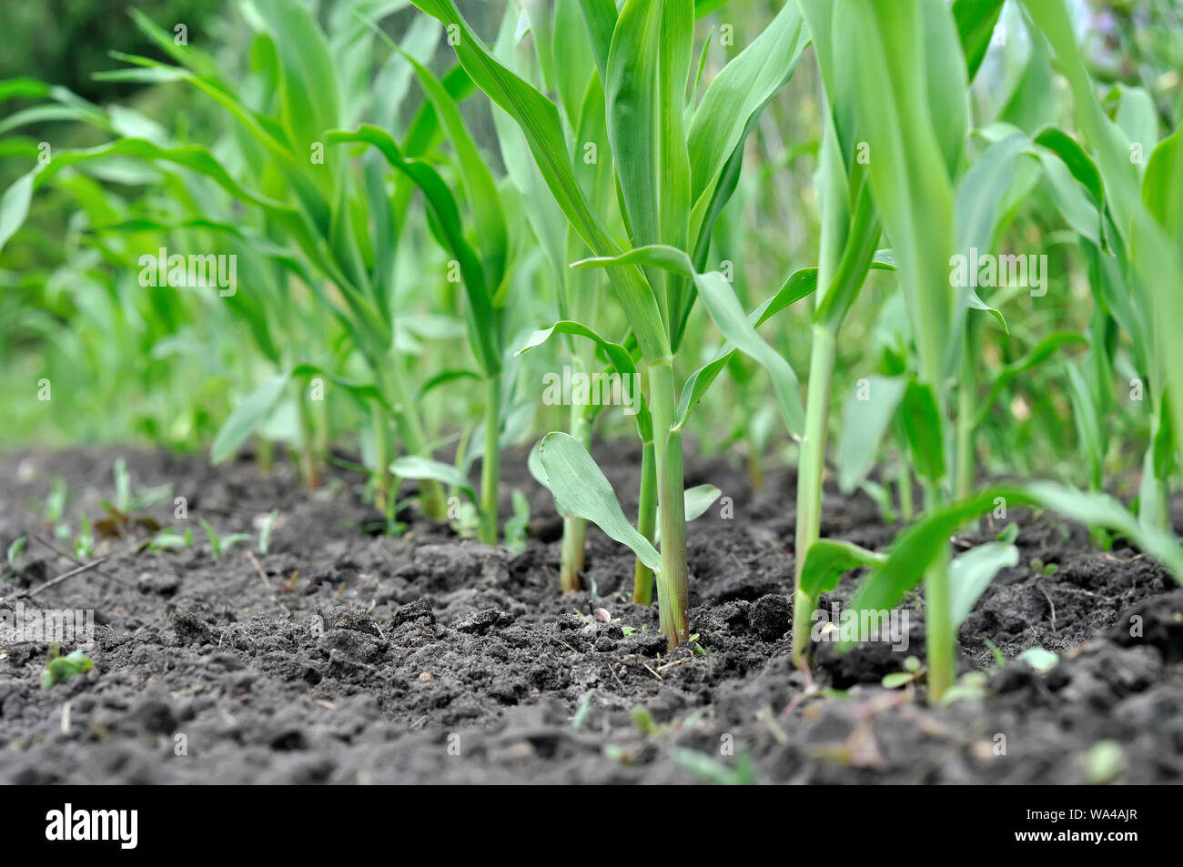
POLYGON ((793 662, 806 665, 815 600, 801 591, 801 571, 809 546, 821 533, 821 490, 826 468, 826 427, 829 416, 830 380, 834 374, 835 341, 822 325, 813 330, 809 354, 809 393, 806 395, 806 438, 797 457, 797 535, 794 549, 793 662))

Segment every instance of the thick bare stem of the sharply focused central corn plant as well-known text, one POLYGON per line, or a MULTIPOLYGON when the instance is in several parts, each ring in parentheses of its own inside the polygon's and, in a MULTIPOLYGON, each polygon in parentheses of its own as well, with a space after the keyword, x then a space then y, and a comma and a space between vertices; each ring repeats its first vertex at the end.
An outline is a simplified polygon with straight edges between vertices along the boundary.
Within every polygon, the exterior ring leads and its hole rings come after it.
POLYGON ((661 522, 658 607, 661 632, 666 634, 672 649, 690 638, 686 623, 686 492, 683 483, 681 431, 671 429, 677 407, 672 358, 665 357, 649 363, 649 397, 658 515, 661 522))

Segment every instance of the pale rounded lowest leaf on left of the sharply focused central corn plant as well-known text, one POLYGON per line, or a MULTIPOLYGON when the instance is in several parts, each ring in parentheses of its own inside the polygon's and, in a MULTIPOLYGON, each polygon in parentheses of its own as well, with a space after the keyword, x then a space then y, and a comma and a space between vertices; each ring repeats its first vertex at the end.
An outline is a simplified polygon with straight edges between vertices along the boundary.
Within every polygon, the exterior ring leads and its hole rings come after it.
POLYGON ((547 434, 538 445, 538 465, 558 506, 590 520, 610 538, 627 545, 654 572, 661 570, 657 549, 628 523, 608 479, 583 445, 564 433, 547 434))

